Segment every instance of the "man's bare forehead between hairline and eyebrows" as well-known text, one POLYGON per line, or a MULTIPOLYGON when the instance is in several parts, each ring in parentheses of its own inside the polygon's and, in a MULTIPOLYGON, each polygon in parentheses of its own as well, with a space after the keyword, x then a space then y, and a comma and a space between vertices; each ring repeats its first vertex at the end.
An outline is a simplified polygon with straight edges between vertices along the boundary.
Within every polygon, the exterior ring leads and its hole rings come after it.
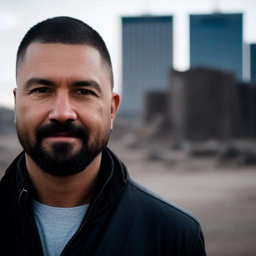
POLYGON ((102 62, 98 50, 88 45, 33 42, 19 64, 17 83, 29 76, 106 79, 102 62))

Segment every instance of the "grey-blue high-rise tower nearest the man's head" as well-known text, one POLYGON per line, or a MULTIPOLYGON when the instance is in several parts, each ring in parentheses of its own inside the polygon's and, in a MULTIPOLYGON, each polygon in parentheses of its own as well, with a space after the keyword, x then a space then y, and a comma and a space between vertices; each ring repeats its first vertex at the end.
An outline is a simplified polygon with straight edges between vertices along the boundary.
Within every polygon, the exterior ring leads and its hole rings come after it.
POLYGON ((139 115, 143 93, 165 90, 172 66, 172 16, 122 17, 119 113, 139 115))

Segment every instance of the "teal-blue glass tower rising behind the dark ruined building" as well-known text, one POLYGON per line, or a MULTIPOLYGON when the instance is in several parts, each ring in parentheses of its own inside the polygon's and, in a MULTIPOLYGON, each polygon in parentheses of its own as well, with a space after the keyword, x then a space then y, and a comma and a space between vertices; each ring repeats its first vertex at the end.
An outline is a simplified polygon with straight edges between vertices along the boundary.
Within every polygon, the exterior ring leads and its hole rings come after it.
POLYGON ((208 66, 242 79, 242 14, 190 15, 190 67, 208 66))

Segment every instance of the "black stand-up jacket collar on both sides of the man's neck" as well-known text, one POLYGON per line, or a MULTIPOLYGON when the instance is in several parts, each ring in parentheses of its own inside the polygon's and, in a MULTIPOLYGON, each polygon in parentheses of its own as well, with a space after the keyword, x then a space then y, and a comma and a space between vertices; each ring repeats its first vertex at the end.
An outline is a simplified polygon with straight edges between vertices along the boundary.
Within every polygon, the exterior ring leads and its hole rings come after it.
MULTIPOLYGON (((16 186, 19 192, 18 204, 24 208, 31 194, 32 185, 25 164, 25 153, 21 152, 7 171, 16 171, 16 186)), ((6 171, 6 172, 7 172, 6 171)), ((94 192, 88 208, 87 220, 100 215, 116 201, 126 188, 128 172, 126 166, 107 147, 102 151, 101 163, 94 192)))

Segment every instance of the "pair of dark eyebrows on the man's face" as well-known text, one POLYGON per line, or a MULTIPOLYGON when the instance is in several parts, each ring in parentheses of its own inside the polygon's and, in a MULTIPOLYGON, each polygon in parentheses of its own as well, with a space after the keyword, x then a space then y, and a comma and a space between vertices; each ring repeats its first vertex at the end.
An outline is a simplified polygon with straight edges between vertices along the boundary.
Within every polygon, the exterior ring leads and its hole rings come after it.
MULTIPOLYGON (((32 77, 24 83, 24 89, 28 89, 32 84, 44 84, 48 86, 54 86, 54 82, 39 77, 32 77)), ((99 84, 94 80, 78 80, 72 83, 73 87, 93 87, 99 93, 102 93, 102 89, 99 84)))

